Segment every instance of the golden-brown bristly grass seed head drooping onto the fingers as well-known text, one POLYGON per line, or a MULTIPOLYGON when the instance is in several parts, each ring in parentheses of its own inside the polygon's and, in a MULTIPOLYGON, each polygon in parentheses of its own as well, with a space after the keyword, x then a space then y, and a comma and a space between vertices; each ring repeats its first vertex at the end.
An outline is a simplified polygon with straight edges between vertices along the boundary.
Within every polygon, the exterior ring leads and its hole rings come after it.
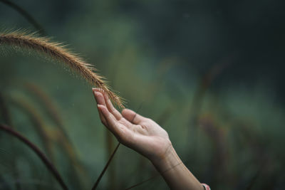
POLYGON ((68 51, 61 43, 53 43, 48 38, 35 36, 34 33, 28 34, 14 31, 10 33, 0 33, 0 46, 1 45, 36 51, 47 55, 49 58, 53 58, 53 60, 65 63, 69 68, 80 73, 91 85, 95 85, 104 90, 115 105, 124 107, 123 101, 110 90, 105 80, 103 80, 103 77, 93 72, 96 71, 95 68, 76 54, 68 51))

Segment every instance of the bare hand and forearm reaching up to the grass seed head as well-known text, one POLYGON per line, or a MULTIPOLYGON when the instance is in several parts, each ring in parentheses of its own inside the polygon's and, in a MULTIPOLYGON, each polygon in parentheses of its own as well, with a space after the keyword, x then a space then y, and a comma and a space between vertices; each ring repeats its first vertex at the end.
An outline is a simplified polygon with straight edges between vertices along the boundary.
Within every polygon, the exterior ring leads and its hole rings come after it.
POLYGON ((119 112, 108 95, 98 88, 93 88, 93 94, 103 125, 120 143, 149 159, 170 189, 204 189, 178 157, 167 132, 160 125, 133 110, 119 112))

